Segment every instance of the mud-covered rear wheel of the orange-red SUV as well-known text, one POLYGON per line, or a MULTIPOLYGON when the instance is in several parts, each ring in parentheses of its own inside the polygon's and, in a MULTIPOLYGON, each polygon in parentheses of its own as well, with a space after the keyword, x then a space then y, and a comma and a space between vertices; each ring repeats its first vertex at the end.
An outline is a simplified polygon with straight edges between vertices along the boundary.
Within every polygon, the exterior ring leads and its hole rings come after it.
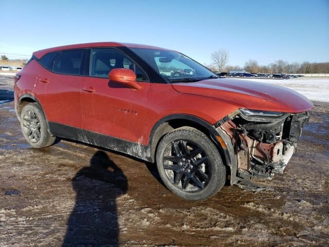
POLYGON ((29 103, 23 108, 21 130, 26 142, 33 148, 48 147, 56 140, 56 136, 48 131, 47 119, 38 103, 29 103))

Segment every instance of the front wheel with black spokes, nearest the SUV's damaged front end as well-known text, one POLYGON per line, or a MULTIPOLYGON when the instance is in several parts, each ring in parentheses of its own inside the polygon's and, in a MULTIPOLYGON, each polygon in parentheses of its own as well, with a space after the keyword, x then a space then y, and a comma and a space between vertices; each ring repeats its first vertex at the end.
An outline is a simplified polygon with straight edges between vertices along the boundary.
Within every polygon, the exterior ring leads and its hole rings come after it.
POLYGON ((156 162, 167 188, 187 200, 208 199, 226 181, 218 149, 204 133, 191 127, 166 134, 158 145, 156 162))

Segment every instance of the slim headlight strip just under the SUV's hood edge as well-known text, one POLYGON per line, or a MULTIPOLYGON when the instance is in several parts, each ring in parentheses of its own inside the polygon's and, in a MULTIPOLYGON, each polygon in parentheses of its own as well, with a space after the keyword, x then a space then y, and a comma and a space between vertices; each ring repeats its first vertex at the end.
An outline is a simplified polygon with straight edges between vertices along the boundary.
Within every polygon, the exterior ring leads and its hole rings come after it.
POLYGON ((255 122, 276 122, 290 115, 286 112, 268 112, 260 110, 239 109, 240 116, 247 121, 255 122))

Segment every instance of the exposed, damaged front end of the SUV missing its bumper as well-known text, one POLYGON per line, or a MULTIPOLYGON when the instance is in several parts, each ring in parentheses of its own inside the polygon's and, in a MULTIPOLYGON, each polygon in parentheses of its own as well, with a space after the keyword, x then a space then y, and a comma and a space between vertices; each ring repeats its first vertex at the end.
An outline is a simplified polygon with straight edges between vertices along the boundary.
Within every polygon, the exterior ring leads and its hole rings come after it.
POLYGON ((309 111, 292 114, 239 109, 216 122, 214 127, 231 137, 236 181, 271 179, 274 173, 282 173, 297 149, 309 115, 309 111))

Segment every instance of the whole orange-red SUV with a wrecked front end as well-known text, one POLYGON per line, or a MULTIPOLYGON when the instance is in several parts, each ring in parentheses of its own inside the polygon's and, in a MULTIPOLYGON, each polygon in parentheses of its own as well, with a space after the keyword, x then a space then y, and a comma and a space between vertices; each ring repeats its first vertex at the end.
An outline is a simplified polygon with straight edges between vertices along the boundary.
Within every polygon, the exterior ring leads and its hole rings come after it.
POLYGON ((174 50, 114 42, 33 53, 15 78, 33 148, 56 136, 157 164, 177 196, 207 199, 226 179, 249 189, 295 152, 313 104, 285 87, 218 78, 174 50))

